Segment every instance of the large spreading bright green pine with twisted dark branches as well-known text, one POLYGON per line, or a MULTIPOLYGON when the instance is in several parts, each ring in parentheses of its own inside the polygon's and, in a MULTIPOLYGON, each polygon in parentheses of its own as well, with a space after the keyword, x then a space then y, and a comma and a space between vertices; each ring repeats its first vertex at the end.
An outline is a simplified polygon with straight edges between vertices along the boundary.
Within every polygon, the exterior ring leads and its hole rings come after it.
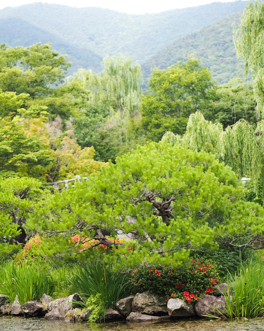
POLYGON ((262 207, 241 200, 238 176, 212 154, 149 143, 101 171, 75 189, 55 193, 30 215, 27 228, 50 237, 51 244, 41 246, 46 256, 89 260, 92 248, 103 244, 114 254, 102 259, 117 269, 142 263, 177 268, 188 260, 189 249, 216 250, 218 243, 252 247, 262 240, 262 207), (132 231, 138 240, 112 243, 106 235, 113 230, 132 231), (75 234, 97 242, 81 249, 70 240, 75 234))

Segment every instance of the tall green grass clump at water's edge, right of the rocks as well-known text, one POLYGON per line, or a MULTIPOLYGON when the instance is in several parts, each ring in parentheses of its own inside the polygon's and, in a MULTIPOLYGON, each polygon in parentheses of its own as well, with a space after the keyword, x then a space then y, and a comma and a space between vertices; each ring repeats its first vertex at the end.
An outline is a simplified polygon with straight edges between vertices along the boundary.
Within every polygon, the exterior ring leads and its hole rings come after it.
POLYGON ((224 293, 229 318, 250 318, 264 314, 264 262, 242 266, 235 275, 227 276, 227 293, 224 293))

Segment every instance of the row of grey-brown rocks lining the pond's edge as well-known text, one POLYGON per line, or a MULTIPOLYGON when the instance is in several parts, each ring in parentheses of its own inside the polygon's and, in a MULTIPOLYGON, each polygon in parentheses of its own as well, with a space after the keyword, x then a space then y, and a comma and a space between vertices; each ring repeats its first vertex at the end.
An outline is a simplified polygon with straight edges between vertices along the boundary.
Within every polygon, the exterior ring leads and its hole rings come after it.
MULTIPOLYGON (((170 318, 201 317, 206 315, 225 316, 226 301, 223 291, 227 284, 223 283, 214 288, 214 295, 203 295, 196 302, 159 297, 155 293, 137 293, 119 300, 115 309, 105 312, 105 320, 124 320, 132 322, 158 321, 170 318)), ((0 314, 25 317, 43 317, 47 319, 64 319, 65 321, 87 321, 91 310, 82 308, 78 302, 83 302, 78 293, 69 297, 52 300, 43 294, 40 300, 32 300, 20 305, 18 298, 11 304, 0 295, 0 314)))

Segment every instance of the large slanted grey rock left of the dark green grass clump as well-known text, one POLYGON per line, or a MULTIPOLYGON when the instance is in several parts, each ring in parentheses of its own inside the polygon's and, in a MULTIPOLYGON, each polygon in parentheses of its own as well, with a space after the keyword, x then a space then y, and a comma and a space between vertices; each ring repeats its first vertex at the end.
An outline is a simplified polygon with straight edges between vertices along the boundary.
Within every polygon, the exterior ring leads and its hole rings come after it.
POLYGON ((81 306, 74 303, 76 301, 82 301, 78 293, 72 294, 69 297, 60 298, 54 301, 51 301, 47 304, 47 310, 52 311, 57 308, 59 310, 59 318, 64 318, 65 314, 74 308, 80 308, 81 306))

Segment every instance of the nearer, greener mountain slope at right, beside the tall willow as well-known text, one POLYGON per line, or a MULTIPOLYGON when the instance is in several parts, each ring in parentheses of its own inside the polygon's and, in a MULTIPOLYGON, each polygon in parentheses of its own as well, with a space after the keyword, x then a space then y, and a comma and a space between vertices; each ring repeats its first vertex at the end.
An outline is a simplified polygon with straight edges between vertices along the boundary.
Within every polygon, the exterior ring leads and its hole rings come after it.
POLYGON ((167 68, 193 54, 201 59, 202 65, 209 68, 212 77, 220 84, 231 78, 243 78, 243 64, 236 56, 232 27, 233 22, 239 25, 241 14, 221 18, 158 51, 142 64, 144 76, 149 76, 150 68, 167 68))

